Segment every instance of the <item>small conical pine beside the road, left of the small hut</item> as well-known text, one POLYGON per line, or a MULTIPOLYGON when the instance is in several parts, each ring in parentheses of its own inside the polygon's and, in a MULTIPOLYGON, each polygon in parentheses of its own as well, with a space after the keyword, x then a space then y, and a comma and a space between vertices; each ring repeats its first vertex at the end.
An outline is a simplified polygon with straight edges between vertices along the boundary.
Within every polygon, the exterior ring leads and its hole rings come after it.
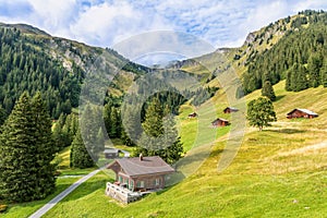
POLYGON ((71 167, 84 169, 93 166, 94 161, 83 143, 82 133, 78 130, 72 143, 71 167))

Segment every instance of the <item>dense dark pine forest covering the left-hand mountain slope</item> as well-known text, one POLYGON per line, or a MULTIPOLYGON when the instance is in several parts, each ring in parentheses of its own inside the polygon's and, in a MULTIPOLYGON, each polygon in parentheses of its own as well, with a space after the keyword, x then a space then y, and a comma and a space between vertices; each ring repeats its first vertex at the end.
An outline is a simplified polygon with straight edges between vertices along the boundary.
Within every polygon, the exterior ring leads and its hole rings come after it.
POLYGON ((41 92, 52 118, 77 107, 85 72, 76 64, 69 72, 43 44, 16 28, 0 28, 0 100, 8 113, 25 90, 41 92))

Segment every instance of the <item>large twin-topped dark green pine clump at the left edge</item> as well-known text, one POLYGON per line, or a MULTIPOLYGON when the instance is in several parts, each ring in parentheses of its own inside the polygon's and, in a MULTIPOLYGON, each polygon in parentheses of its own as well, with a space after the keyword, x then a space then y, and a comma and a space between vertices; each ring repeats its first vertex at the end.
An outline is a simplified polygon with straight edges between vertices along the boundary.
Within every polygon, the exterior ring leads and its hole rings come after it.
POLYGON ((23 93, 0 135, 0 196, 13 202, 44 198, 55 190, 51 121, 40 94, 23 93))

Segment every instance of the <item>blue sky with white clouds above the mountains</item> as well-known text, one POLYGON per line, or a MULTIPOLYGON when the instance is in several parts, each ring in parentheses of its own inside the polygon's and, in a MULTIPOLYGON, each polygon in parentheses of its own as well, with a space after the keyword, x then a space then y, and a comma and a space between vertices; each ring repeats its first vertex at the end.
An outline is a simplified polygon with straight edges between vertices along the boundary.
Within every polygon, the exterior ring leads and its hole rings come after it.
POLYGON ((327 1, 0 0, 0 22, 26 23, 53 36, 109 48, 145 33, 179 32, 217 49, 241 46, 249 33, 306 9, 327 10, 327 1))

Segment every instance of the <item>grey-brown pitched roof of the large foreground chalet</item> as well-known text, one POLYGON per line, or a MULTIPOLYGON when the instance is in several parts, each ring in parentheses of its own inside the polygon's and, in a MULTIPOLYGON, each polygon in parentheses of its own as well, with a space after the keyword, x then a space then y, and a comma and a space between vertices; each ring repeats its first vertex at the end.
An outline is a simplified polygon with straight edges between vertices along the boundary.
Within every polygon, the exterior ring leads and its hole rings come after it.
POLYGON ((114 162, 119 164, 122 170, 130 177, 174 172, 174 169, 158 156, 143 157, 143 160, 140 160, 140 157, 116 159, 107 168, 110 169, 114 162))

